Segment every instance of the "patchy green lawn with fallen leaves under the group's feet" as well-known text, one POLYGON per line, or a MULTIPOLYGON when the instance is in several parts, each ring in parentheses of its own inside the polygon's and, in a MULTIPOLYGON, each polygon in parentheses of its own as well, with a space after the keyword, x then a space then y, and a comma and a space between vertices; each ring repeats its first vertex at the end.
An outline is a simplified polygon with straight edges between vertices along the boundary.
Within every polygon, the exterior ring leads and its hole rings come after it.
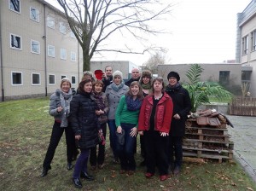
MULTIPOLYGON (((49 144, 53 118, 48 114, 49 98, 0 103, 0 190, 75 190, 73 171, 67 171, 65 138, 56 149, 52 169, 39 177, 49 144)), ((142 160, 139 144, 137 164, 142 160)), ((119 165, 112 163, 107 139, 106 163, 102 170, 90 171, 93 182, 82 180, 86 190, 256 190, 255 183, 236 163, 215 161, 184 162, 179 177, 160 182, 146 179, 145 168, 135 175, 119 175, 119 165)), ((83 189, 82 189, 83 190, 83 189)))

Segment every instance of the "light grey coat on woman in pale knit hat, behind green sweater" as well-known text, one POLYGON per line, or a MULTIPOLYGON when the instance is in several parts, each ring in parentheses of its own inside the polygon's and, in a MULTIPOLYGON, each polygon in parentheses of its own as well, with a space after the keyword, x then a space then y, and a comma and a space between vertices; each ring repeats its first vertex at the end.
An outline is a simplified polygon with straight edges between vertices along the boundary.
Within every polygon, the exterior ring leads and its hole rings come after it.
POLYGON ((109 104, 109 112, 108 112, 108 119, 115 119, 114 113, 119 105, 119 100, 121 96, 124 96, 126 92, 129 90, 129 87, 124 84, 123 88, 119 91, 115 91, 112 89, 111 84, 108 85, 105 93, 108 97, 108 104, 109 104))

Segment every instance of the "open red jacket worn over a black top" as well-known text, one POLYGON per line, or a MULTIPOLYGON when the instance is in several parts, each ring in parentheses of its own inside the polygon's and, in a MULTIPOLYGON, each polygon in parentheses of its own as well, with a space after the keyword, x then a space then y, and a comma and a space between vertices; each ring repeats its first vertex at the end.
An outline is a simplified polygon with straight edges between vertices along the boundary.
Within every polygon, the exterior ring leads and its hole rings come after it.
MULTIPOLYGON (((143 100, 143 105, 141 107, 138 121, 138 131, 149 130, 152 108, 153 95, 149 95, 143 100)), ((169 133, 172 122, 172 111, 172 98, 164 93, 163 97, 160 99, 155 109, 154 130, 169 133)))

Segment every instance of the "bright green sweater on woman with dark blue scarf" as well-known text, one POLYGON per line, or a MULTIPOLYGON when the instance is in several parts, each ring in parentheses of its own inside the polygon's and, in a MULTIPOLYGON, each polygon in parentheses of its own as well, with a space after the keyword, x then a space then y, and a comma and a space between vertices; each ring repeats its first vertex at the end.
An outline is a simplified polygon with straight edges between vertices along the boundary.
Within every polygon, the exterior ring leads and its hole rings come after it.
POLYGON ((118 127, 121 123, 124 124, 136 124, 138 122, 140 110, 128 111, 125 96, 121 96, 119 105, 115 111, 115 125, 118 127))

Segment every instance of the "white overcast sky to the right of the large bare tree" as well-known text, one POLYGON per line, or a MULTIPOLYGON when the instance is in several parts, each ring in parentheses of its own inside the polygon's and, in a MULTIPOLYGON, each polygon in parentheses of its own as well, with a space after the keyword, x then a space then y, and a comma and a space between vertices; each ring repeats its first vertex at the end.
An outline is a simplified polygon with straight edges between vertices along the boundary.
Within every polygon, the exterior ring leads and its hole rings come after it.
MULTIPOLYGON (((167 64, 235 60, 236 14, 246 9, 250 2, 251 0, 175 0, 174 3, 177 4, 172 8, 169 20, 154 24, 155 27, 165 26, 171 33, 150 38, 150 41, 168 49, 167 64)), ((124 42, 125 40, 130 41, 124 39, 124 42)), ((113 45, 122 43, 122 38, 113 36, 111 42, 113 45)), ((136 41, 132 43, 137 44, 136 41)), ((93 60, 131 61, 143 65, 149 57, 148 54, 123 55, 108 52, 103 56, 96 55, 93 60)))

